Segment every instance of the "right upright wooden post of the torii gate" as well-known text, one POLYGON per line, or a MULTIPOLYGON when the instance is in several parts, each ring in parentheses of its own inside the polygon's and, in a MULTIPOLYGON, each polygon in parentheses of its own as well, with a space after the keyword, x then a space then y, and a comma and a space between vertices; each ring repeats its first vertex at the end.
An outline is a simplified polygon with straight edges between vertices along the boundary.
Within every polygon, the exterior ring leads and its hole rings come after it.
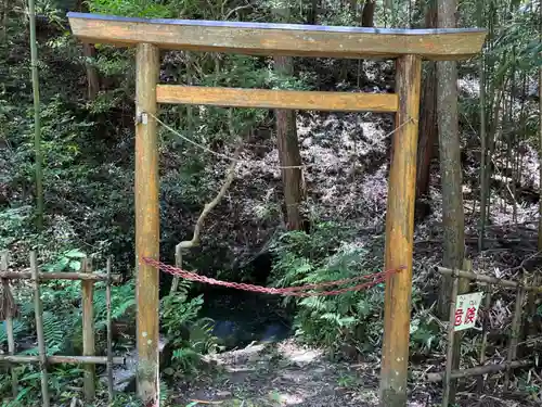
POLYGON ((380 372, 380 406, 385 407, 406 405, 422 60, 401 56, 396 67, 400 102, 389 173, 385 269, 406 268, 386 280, 380 372))

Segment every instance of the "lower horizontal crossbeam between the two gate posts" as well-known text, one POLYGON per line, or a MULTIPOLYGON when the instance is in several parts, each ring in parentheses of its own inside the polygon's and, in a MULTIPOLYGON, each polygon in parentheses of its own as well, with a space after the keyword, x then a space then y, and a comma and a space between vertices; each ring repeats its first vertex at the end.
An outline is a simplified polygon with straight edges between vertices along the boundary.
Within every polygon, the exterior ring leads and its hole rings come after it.
POLYGON ((397 112, 393 93, 313 92, 159 85, 158 103, 341 112, 397 112))

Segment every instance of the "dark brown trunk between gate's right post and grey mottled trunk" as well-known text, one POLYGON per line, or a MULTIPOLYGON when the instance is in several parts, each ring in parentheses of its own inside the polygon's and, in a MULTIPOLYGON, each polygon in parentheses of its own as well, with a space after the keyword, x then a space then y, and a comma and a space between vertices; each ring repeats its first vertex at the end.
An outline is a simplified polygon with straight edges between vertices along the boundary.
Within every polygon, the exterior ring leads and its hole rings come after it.
MULTIPOLYGON (((437 28, 437 2, 431 0, 425 12, 426 28, 437 28)), ((422 91, 420 117, 420 141, 417 144, 416 200, 427 195, 434 145, 438 137, 437 126, 437 72, 435 62, 427 62, 422 91)))

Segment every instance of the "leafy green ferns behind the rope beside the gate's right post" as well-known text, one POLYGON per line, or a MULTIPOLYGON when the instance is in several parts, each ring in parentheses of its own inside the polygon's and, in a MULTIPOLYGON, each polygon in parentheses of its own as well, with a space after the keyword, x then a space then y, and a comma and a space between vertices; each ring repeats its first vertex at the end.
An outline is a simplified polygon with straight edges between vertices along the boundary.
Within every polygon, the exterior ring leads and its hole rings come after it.
MULTIPOLYGON (((289 231, 276 239, 271 250, 276 257, 271 279, 276 287, 314 284, 382 271, 382 253, 356 243, 358 231, 350 226, 319 222, 310 234, 289 231)), ((358 282, 363 283, 363 280, 358 282)), ((326 290, 334 288, 326 288, 326 290)), ((295 306, 296 335, 334 353, 371 354, 382 347, 385 284, 338 295, 285 297, 295 306)), ((440 326, 424 309, 421 293, 413 287, 417 310, 411 323, 411 352, 428 353, 441 347, 440 326)))

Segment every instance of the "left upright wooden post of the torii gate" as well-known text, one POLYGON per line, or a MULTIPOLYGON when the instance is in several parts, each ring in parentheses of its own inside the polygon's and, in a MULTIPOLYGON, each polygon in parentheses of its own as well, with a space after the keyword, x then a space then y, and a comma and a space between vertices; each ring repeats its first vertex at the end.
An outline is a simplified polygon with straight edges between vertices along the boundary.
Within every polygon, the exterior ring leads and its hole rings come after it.
POLYGON ((159 256, 158 140, 156 84, 159 51, 140 43, 136 56, 136 264, 138 394, 145 405, 158 399, 158 270, 143 257, 159 256))

